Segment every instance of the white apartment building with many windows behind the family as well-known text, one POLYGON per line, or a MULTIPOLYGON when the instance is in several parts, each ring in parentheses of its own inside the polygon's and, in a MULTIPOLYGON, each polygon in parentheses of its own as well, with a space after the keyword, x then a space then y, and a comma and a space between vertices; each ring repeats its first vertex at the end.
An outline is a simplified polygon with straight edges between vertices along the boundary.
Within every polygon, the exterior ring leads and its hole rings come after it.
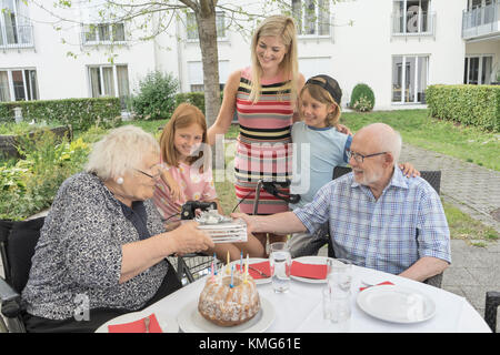
MULTIPOLYGON (((129 23, 103 21, 99 7, 88 1, 51 9, 74 21, 61 29, 54 29, 53 14, 31 2, 0 2, 10 10, 0 13, 0 101, 126 98, 151 70, 171 72, 183 92, 203 89, 196 21, 189 11, 167 32, 139 41, 140 33, 127 30, 129 23)), ((343 89, 342 105, 360 82, 373 89, 376 109, 382 110, 424 104, 430 84, 500 81, 500 0, 327 3, 290 0, 300 33, 299 70, 306 78, 336 78, 343 89)), ((267 14, 272 12, 280 10, 267 14)), ((221 9, 221 87, 232 71, 250 63, 250 38, 229 24, 230 14, 221 9)))

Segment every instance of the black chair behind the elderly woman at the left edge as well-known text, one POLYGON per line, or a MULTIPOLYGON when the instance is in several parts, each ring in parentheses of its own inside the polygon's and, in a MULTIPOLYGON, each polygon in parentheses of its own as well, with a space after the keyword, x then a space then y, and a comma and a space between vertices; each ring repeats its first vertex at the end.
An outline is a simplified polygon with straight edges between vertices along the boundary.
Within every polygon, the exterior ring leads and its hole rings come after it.
POLYGON ((21 317, 21 292, 24 288, 34 246, 40 237, 44 217, 29 221, 0 221, 0 253, 4 278, 0 277, 1 313, 7 318, 7 326, 0 317, 0 327, 13 333, 26 332, 21 317))

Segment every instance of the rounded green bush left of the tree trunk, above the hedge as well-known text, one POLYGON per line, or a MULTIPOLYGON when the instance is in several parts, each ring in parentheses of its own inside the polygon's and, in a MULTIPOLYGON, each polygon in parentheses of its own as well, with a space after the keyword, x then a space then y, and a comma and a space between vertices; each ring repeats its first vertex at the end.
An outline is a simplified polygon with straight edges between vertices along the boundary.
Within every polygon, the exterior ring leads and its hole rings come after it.
POLYGON ((139 82, 139 91, 131 100, 132 110, 139 119, 170 119, 176 108, 179 82, 170 73, 153 71, 139 82))

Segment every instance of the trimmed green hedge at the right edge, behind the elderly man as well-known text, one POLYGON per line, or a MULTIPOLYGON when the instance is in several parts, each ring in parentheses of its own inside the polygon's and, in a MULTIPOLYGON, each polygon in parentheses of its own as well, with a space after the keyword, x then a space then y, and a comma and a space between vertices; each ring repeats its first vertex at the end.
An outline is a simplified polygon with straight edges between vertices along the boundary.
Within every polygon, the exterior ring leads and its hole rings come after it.
POLYGON ((426 100, 434 118, 500 131, 499 85, 430 85, 426 100))

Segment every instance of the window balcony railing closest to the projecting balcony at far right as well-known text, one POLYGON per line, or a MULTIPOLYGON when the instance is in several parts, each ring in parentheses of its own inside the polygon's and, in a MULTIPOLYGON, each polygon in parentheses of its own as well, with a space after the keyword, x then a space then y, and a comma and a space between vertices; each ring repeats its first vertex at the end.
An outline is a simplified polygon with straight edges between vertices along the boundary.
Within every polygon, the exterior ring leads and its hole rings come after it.
POLYGON ((392 13, 392 36, 434 36, 436 12, 392 13))

